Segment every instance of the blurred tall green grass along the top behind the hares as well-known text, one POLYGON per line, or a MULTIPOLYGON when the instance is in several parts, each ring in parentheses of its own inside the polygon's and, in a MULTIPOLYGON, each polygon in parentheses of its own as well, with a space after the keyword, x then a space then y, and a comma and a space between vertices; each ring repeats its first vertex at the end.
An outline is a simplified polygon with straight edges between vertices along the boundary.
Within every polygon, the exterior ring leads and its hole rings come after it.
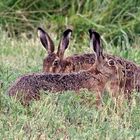
POLYGON ((71 27, 77 39, 95 28, 113 43, 131 43, 140 35, 139 0, 1 0, 0 24, 10 35, 45 26, 62 32, 71 27))

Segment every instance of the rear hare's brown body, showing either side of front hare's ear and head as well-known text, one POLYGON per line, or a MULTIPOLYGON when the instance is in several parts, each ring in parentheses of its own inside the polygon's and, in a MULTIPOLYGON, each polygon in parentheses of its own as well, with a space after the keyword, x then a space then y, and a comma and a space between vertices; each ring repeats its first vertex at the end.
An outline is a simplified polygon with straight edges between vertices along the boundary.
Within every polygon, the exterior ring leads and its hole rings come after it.
MULTIPOLYGON (((139 72, 137 72, 138 71, 137 65, 131 61, 128 61, 126 59, 117 56, 105 54, 105 57, 117 61, 123 67, 124 72, 124 75, 120 79, 114 79, 110 82, 110 84, 108 85, 108 90, 110 90, 112 94, 117 94, 117 92, 119 93, 121 92, 125 93, 126 96, 127 95, 129 96, 129 94, 135 89, 138 91, 139 89, 138 85, 140 85, 139 84, 140 76, 138 76, 139 72)), ((60 65, 61 68, 59 69, 56 68, 55 72, 56 71, 61 73, 78 72, 80 70, 87 70, 91 68, 95 63, 95 55, 94 54, 73 55, 71 57, 65 58, 63 62, 64 63, 60 65)))

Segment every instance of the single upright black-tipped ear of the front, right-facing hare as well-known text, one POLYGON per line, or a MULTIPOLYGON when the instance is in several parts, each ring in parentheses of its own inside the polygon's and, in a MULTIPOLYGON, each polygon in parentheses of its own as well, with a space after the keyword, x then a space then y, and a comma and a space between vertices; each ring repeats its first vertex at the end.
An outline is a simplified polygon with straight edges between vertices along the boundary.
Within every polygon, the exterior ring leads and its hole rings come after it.
POLYGON ((103 59, 103 52, 100 45, 101 37, 99 33, 94 31, 93 29, 89 29, 89 36, 90 36, 90 47, 93 48, 94 52, 96 53, 97 59, 103 59))

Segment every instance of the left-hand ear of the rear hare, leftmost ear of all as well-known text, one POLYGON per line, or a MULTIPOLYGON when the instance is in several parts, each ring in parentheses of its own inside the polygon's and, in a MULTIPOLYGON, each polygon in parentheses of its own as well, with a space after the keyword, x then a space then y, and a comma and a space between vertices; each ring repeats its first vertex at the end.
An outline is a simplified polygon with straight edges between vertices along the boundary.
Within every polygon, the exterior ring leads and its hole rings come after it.
POLYGON ((47 32, 38 27, 38 36, 44 48, 48 51, 48 54, 54 52, 54 43, 47 32))

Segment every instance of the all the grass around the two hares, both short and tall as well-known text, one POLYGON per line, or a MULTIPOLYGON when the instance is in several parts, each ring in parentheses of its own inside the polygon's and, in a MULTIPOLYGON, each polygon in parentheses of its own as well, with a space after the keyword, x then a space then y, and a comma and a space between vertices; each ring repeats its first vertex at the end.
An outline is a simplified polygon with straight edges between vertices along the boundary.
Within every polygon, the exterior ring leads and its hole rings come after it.
POLYGON ((18 76, 42 71, 47 53, 37 26, 47 30, 56 48, 62 31, 73 29, 66 56, 92 52, 87 30, 94 28, 102 35, 105 52, 140 65, 138 0, 1 0, 0 140, 139 140, 139 93, 133 93, 131 104, 124 100, 117 107, 105 92, 100 109, 95 108, 94 94, 86 90, 79 95, 42 93, 29 108, 6 95, 18 76))

